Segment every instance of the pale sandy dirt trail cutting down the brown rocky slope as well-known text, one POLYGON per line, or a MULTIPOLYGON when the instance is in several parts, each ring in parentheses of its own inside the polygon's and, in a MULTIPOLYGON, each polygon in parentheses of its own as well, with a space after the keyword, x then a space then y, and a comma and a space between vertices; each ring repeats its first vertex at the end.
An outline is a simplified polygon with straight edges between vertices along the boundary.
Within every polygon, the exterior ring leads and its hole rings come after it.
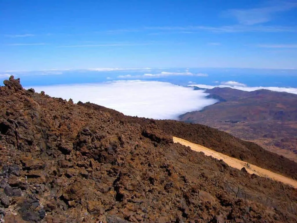
POLYGON ((212 156, 214 158, 217 158, 218 160, 222 159, 226 164, 228 164, 230 167, 236 168, 236 169, 242 169, 243 167, 247 170, 247 172, 249 172, 250 174, 257 174, 261 177, 267 177, 267 178, 271 178, 273 180, 277 180, 280 181, 282 183, 285 184, 289 184, 291 186, 293 186, 294 188, 297 189, 297 181, 284 177, 280 174, 271 172, 267 169, 263 169, 260 167, 257 167, 253 164, 247 164, 247 162, 238 160, 236 158, 232 158, 230 156, 224 155, 222 153, 218 153, 214 150, 208 149, 204 146, 198 145, 198 144, 194 144, 192 142, 189 142, 187 140, 184 139, 180 139, 177 137, 173 137, 173 142, 175 143, 180 143, 182 145, 185 146, 189 146, 191 147, 192 150, 197 151, 197 152, 203 152, 206 156, 212 156))

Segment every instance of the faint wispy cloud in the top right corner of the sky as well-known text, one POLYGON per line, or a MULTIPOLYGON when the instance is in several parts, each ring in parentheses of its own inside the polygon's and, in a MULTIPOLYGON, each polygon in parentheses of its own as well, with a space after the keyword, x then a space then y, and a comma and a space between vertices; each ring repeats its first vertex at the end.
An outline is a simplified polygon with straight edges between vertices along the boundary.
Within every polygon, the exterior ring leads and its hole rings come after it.
POLYGON ((273 19, 275 13, 285 12, 297 7, 294 2, 276 2, 267 7, 259 7, 252 9, 232 9, 225 12, 225 15, 233 16, 240 24, 254 25, 266 23, 273 19))

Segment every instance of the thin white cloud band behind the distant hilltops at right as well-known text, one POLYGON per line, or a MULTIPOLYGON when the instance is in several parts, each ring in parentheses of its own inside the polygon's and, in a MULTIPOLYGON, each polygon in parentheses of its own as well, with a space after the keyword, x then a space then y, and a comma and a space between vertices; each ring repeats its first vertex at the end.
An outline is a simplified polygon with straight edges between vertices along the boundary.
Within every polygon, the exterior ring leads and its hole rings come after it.
MULTIPOLYGON (((235 81, 231 81, 231 82, 235 82, 235 81)), ((245 85, 245 84, 243 84, 243 85, 245 85)), ((238 90, 242 90, 242 91, 256 91, 259 89, 266 89, 266 90, 271 90, 271 91, 288 92, 288 93, 292 93, 292 94, 297 94, 297 88, 293 88, 293 87, 261 87, 261 86, 260 87, 248 87, 246 85, 245 86, 238 86, 238 85, 230 86, 230 85, 225 85, 225 84, 220 84, 220 85, 190 84, 188 86, 197 86, 197 87, 206 88, 206 89, 212 89, 214 87, 230 87, 230 88, 238 89, 238 90)))

